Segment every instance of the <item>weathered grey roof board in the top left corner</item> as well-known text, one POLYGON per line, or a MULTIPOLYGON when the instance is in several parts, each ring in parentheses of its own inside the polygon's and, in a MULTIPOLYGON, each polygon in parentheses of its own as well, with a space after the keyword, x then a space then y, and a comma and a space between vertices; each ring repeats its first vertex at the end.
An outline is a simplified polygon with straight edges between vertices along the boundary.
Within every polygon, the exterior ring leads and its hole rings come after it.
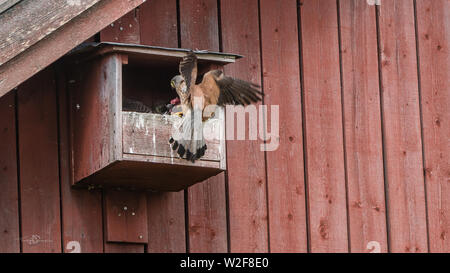
POLYGON ((88 10, 100 0, 22 1, 0 17, 0 65, 88 10))

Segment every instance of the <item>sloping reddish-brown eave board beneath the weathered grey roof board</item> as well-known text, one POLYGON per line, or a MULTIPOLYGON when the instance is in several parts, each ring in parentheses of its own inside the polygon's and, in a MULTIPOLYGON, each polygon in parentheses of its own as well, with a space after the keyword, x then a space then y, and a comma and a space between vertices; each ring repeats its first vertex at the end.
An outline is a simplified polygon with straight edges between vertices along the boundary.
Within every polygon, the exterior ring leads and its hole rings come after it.
MULTIPOLYGON (((33 2, 33 1, 24 1, 33 2)), ((76 1, 73 1, 76 2, 76 1)), ((0 66, 0 96, 58 60, 72 48, 142 4, 142 0, 104 0, 0 66), (51 54, 49 54, 51 53, 51 54), (33 60, 33 65, 29 64, 33 60)))

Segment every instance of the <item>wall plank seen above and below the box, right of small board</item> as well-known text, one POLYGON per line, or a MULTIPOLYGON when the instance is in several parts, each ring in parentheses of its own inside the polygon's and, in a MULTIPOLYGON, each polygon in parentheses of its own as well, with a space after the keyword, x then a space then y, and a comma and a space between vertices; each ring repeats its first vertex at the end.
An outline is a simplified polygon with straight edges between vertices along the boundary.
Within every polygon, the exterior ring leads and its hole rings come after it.
MULTIPOLYGON (((176 0, 147 1, 140 14, 142 44, 178 47, 176 0)), ((147 251, 186 252, 184 192, 149 193, 147 203, 147 251)))

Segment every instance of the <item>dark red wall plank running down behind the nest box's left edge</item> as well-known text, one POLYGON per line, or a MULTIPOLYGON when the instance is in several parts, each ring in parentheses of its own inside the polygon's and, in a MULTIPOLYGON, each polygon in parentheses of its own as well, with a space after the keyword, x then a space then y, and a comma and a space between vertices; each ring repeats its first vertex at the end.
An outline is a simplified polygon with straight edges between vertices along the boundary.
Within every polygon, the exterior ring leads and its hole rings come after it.
MULTIPOLYGON (((69 79, 63 68, 58 69, 57 87, 59 102, 59 166, 61 181, 63 251, 70 242, 80 244, 82 253, 103 252, 102 198, 99 191, 71 188, 69 145, 69 108, 67 84, 69 79)), ((69 74, 70 75, 70 74, 69 74)))

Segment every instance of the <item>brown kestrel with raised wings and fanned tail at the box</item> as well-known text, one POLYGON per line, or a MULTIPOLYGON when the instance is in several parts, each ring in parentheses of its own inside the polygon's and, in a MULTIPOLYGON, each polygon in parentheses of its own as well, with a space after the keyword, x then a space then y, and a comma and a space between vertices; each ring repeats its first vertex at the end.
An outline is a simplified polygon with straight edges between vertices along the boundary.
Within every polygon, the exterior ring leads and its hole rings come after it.
POLYGON ((196 84, 197 57, 192 51, 180 62, 179 71, 180 75, 172 79, 171 86, 180 97, 183 121, 169 143, 181 158, 194 162, 207 148, 202 120, 210 118, 213 112, 205 113, 205 107, 248 105, 260 101, 263 94, 259 85, 225 76, 220 70, 209 71, 202 82, 196 84))

